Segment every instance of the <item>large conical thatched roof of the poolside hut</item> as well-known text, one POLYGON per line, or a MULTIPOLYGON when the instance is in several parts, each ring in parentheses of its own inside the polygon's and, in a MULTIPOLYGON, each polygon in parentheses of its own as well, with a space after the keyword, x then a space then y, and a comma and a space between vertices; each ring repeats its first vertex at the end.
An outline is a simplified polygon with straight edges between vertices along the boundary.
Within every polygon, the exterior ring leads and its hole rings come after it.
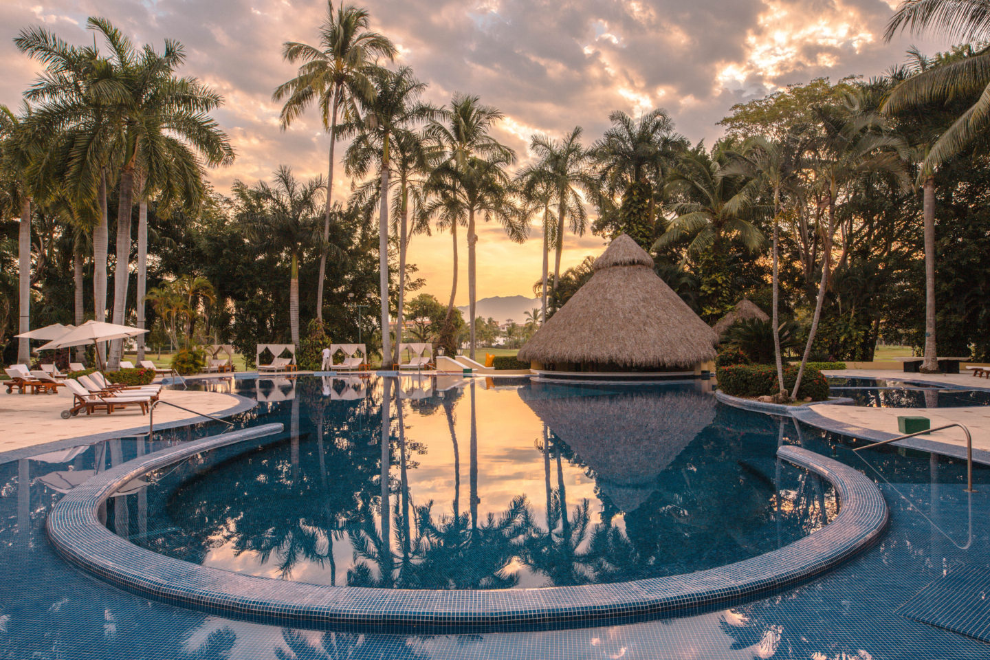
POLYGON ((715 359, 715 332, 653 272, 625 234, 594 275, 533 335, 519 359, 637 368, 693 367, 715 359))

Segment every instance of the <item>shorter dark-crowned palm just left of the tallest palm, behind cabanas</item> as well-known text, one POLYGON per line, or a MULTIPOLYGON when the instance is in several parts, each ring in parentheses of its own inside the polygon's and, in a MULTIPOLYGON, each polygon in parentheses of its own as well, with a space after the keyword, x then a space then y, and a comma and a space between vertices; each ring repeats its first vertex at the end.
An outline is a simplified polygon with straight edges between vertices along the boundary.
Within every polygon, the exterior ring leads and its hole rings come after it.
POLYGON ((273 185, 259 181, 252 188, 235 181, 233 190, 251 238, 262 249, 289 256, 289 325, 292 343, 298 346, 299 259, 308 247, 322 246, 316 214, 324 183, 319 176, 301 183, 285 165, 279 166, 274 177, 273 185))

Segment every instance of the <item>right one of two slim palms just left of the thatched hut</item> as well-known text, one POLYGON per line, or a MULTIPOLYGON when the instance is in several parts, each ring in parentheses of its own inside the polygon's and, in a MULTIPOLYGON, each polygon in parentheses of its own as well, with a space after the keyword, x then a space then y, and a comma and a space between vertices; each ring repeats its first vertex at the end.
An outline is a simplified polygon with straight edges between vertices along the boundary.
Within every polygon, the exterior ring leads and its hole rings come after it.
POLYGON ((530 140, 530 151, 538 158, 538 167, 545 171, 549 185, 554 190, 557 210, 557 226, 554 232, 553 291, 560 279, 560 257, 563 254, 563 232, 570 213, 570 231, 583 236, 587 227, 587 215, 577 192, 579 185, 587 185, 589 152, 581 145, 582 129, 576 126, 561 140, 551 140, 537 134, 530 140))

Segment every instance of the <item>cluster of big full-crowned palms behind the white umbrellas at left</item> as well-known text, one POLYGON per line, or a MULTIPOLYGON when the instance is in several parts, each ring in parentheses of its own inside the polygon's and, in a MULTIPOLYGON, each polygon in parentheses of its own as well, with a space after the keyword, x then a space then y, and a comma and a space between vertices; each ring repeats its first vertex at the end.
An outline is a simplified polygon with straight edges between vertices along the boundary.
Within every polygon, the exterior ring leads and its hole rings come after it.
MULTIPOLYGON (((209 113, 223 98, 194 77, 179 76, 185 52, 166 40, 161 50, 136 46, 102 18, 87 27, 98 47, 67 44, 43 28, 24 30, 15 44, 43 65, 25 92, 20 111, 0 107, 0 180, 3 213, 20 223, 21 331, 30 329, 33 214, 57 216, 74 233, 76 310, 82 322, 83 245, 92 242, 94 316, 107 317, 108 195, 116 188, 116 262, 112 321, 126 319, 134 206, 138 225, 138 324, 144 327, 148 202, 194 210, 206 184, 204 167, 230 163, 234 149, 209 113)), ((143 339, 139 339, 140 357, 143 339)), ((111 343, 109 366, 120 361, 122 341, 111 343)), ((28 340, 18 359, 29 361, 28 340)))

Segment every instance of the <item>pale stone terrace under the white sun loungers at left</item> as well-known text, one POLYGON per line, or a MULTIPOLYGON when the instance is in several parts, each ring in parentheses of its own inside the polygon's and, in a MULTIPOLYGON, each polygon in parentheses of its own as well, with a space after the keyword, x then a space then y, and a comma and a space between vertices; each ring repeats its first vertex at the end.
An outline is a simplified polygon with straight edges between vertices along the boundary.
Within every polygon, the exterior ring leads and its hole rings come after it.
MULTIPOLYGON (((3 420, 0 453, 53 440, 148 426, 148 416, 143 415, 140 408, 120 410, 113 415, 80 414, 62 420, 61 412, 72 405, 72 397, 65 388, 59 388, 59 393, 56 395, 17 394, 16 391, 14 394, 7 394, 6 392, 6 389, 0 391, 0 420, 3 420)), ((161 399, 197 413, 211 415, 233 408, 241 401, 237 397, 217 392, 168 389, 161 391, 161 399)), ((171 406, 159 406, 154 410, 154 425, 191 420, 195 417, 197 416, 171 406)))

